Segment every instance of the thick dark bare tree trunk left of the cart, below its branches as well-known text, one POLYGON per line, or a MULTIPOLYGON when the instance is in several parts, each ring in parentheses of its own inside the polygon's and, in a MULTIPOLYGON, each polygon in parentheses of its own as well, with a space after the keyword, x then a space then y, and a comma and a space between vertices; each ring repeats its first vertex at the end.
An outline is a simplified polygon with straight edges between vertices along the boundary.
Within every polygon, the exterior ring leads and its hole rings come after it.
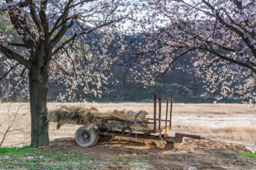
POLYGON ((32 66, 29 72, 29 93, 31 109, 31 146, 49 145, 47 113, 47 69, 32 66))

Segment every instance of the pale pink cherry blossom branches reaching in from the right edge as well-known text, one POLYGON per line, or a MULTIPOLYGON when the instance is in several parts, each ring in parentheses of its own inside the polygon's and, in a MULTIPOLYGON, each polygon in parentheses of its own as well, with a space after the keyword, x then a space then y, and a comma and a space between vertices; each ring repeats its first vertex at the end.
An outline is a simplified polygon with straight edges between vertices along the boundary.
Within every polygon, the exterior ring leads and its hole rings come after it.
POLYGON ((145 6, 150 19, 138 21, 144 41, 131 75, 139 65, 147 78, 172 69, 193 71, 209 93, 220 90, 217 99, 256 103, 256 1, 163 0, 145 6), (181 66, 181 59, 190 64, 181 66))

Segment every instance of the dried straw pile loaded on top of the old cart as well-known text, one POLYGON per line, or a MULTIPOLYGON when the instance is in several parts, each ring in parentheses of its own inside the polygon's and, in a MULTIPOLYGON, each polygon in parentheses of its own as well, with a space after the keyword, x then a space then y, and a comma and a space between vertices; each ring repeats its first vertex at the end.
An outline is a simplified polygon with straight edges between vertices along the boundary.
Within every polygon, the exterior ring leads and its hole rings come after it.
MULTIPOLYGON (((49 122, 57 122, 57 129, 63 124, 81 124, 88 125, 90 127, 97 127, 102 124, 104 120, 104 125, 107 126, 108 130, 122 129, 122 127, 127 127, 126 122, 119 122, 113 120, 106 120, 108 118, 118 118, 123 120, 138 120, 141 122, 147 122, 146 111, 107 111, 101 113, 97 108, 86 108, 83 106, 62 106, 59 109, 51 110, 47 113, 47 119, 49 122)), ((136 124, 131 123, 132 131, 147 132, 147 124, 136 124)))

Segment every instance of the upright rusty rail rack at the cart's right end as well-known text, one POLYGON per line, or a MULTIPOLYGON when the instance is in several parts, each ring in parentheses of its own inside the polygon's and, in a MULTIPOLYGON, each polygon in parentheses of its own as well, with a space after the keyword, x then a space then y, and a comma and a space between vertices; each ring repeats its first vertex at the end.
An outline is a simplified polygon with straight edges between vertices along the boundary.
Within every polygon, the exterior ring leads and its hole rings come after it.
POLYGON ((149 124, 154 124, 154 129, 152 133, 161 132, 162 129, 172 129, 172 103, 173 97, 170 98, 166 97, 158 97, 156 92, 154 93, 154 118, 147 118, 149 124), (157 117, 157 101, 158 101, 158 117, 157 117), (166 101, 166 112, 165 118, 162 119, 162 103, 166 101), (168 107, 170 105, 170 111, 168 107), (150 122, 153 121, 153 122, 150 122), (163 123, 163 124, 162 124, 163 123))

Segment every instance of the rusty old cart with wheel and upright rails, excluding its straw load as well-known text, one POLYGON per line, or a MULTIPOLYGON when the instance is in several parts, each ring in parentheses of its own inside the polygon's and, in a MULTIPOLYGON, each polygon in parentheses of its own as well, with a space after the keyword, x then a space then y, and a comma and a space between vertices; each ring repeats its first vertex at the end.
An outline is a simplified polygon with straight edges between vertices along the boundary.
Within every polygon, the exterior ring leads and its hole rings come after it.
POLYGON ((169 131, 172 129, 172 107, 173 97, 157 97, 157 94, 154 93, 154 115, 153 117, 148 117, 147 122, 108 118, 103 120, 102 124, 99 127, 83 126, 77 129, 76 142, 80 146, 88 147, 95 145, 97 141, 111 141, 115 138, 115 136, 120 136, 125 138, 140 138, 166 141, 165 148, 173 149, 174 143, 182 143, 184 137, 201 139, 201 137, 197 135, 182 133, 175 133, 175 136, 170 136, 169 131), (162 110, 162 103, 166 103, 164 104, 166 105, 166 110, 164 111, 162 110), (104 121, 106 120, 124 122, 124 124, 127 124, 127 126, 123 129, 115 129, 115 131, 108 131, 108 128, 106 128, 106 126, 104 125, 104 121), (134 123, 148 124, 148 131, 131 131, 130 126, 134 123))

